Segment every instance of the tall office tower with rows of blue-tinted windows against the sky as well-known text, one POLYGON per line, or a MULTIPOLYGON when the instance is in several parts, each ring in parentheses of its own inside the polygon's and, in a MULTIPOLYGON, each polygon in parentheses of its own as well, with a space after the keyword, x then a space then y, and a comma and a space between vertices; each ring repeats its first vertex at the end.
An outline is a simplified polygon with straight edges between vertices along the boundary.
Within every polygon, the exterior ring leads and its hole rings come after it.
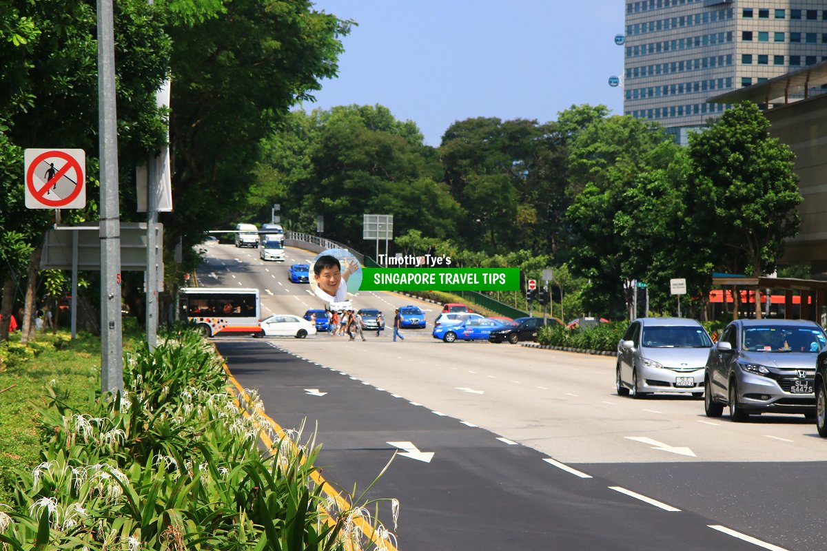
POLYGON ((624 45, 624 113, 685 143, 708 98, 827 59, 827 2, 627 0, 624 45))

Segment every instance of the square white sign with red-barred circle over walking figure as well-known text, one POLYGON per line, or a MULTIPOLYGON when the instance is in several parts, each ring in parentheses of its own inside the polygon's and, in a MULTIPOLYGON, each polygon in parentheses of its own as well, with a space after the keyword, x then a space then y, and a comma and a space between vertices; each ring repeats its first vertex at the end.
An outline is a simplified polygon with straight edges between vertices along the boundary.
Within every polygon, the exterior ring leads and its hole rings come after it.
POLYGON ((23 154, 26 208, 86 206, 84 150, 26 150, 23 154))

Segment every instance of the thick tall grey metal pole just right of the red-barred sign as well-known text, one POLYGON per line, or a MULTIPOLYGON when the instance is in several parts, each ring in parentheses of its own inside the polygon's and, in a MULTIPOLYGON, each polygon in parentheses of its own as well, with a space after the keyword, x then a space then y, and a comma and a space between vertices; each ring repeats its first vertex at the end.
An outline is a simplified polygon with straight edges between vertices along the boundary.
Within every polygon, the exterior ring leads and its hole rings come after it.
POLYGON ((123 390, 121 218, 117 182, 115 37, 112 0, 98 0, 98 143, 100 148, 101 390, 123 390))

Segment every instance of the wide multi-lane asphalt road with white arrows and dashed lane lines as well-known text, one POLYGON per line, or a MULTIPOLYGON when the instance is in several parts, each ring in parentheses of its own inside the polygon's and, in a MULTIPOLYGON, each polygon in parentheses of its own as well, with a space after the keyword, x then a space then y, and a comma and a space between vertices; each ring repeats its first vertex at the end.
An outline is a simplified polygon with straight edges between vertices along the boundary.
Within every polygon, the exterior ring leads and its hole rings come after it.
MULTIPOLYGON (((312 253, 265 265, 255 250, 208 250, 202 284, 259 287, 265 313, 314 305, 286 279, 312 253)), ((385 311, 411 302, 354 298, 385 311)), ((430 326, 437 311, 423 307, 430 326)), ((399 447, 390 442, 433 453, 397 456, 370 493, 401 501, 399 549, 827 549, 817 482, 827 442, 803 417, 710 420, 688 396, 616 396, 612 358, 404 333, 217 340, 277 422, 318 422, 328 481, 365 488, 399 447)), ((380 511, 392 524, 390 505, 380 511)))

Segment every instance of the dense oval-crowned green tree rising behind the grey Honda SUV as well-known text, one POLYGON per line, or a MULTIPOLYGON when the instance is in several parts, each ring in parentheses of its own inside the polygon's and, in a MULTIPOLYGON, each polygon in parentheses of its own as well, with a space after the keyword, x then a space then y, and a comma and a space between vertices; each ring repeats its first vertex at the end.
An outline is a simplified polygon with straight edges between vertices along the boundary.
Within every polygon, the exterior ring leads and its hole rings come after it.
MULTIPOLYGON (((705 239, 724 251, 716 266, 731 273, 772 273, 784 240, 800 225, 794 154, 768 129, 755 104, 741 103, 690 136, 691 207, 705 239)), ((755 306, 760 318, 761 306, 755 306)))

